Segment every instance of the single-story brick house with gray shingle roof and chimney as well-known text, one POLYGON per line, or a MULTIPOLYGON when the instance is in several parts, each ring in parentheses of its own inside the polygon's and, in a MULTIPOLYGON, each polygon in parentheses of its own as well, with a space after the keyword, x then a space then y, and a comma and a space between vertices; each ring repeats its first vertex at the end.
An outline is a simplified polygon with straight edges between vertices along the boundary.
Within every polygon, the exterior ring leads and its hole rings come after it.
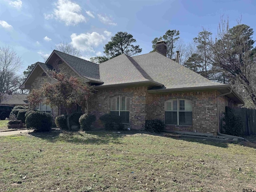
MULTIPOLYGON (((212 82, 166 57, 166 43, 157 42, 156 52, 138 56, 121 54, 101 64, 54 50, 44 63, 38 62, 20 88, 38 89, 52 82, 53 68, 68 76, 83 78, 96 93, 88 113, 96 115, 94 127, 102 128, 99 117, 106 113, 122 116, 131 129, 144 129, 146 120, 160 119, 166 131, 216 135, 225 106, 244 104, 228 84, 212 82)), ((58 109, 40 104, 39 110, 58 109)))

